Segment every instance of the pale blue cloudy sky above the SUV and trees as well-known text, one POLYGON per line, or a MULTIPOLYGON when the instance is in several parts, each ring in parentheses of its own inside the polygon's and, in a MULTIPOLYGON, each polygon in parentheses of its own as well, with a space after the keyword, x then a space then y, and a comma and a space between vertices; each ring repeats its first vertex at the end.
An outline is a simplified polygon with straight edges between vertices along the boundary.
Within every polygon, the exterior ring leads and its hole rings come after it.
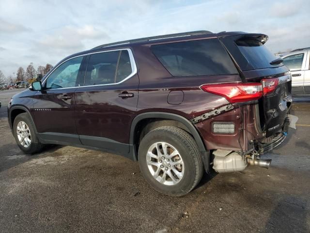
POLYGON ((104 43, 195 30, 265 33, 275 53, 310 47, 310 0, 0 0, 0 70, 9 75, 104 43))

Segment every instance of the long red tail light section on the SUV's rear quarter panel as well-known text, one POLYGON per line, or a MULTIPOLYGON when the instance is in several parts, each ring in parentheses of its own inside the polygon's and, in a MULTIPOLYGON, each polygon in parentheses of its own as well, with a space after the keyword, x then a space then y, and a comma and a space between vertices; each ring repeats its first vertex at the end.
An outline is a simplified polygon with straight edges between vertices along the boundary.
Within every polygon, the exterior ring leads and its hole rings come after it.
POLYGON ((220 95, 231 103, 258 100, 263 96, 261 83, 223 83, 202 85, 202 90, 220 95))

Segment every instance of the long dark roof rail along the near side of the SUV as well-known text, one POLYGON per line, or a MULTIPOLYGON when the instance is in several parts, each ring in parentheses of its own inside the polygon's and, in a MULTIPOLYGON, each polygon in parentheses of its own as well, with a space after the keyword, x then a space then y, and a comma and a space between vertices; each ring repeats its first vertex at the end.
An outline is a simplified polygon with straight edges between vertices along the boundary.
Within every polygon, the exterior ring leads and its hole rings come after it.
POLYGON ((114 45, 123 45, 123 44, 130 44, 134 42, 147 42, 150 40, 159 40, 159 39, 167 39, 167 38, 174 38, 174 37, 182 37, 182 36, 190 36, 190 35, 203 35, 203 34, 211 34, 212 32, 210 31, 193 31, 193 32, 186 32, 186 33, 173 33, 173 34, 166 34, 166 35, 156 35, 156 36, 150 36, 150 37, 143 37, 143 38, 138 38, 138 39, 133 39, 133 40, 124 40, 124 41, 119 41, 119 42, 114 42, 114 43, 109 43, 109 44, 103 44, 99 45, 94 49, 99 49, 103 47, 108 47, 108 46, 114 46, 114 45))

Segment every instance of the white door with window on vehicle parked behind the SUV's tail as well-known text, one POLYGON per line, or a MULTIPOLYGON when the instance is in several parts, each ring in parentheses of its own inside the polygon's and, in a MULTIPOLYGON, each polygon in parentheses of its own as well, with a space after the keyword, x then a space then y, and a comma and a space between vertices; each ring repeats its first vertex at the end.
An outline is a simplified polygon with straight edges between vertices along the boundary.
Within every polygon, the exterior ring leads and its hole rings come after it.
POLYGON ((307 51, 298 51, 288 56, 283 56, 283 64, 288 67, 292 73, 292 94, 304 95, 305 66, 307 51))

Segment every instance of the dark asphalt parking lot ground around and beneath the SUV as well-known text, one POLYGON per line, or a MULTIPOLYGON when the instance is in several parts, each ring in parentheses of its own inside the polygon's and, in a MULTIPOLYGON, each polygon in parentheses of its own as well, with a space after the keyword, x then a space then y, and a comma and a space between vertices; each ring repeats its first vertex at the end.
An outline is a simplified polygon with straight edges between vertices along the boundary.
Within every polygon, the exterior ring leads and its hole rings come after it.
MULTIPOLYGON (((17 92, 20 90, 17 90, 17 92)), ((139 165, 73 147, 23 154, 7 122, 16 90, 0 91, 0 232, 309 233, 310 99, 267 170, 204 175, 181 198, 157 193, 139 165)))

